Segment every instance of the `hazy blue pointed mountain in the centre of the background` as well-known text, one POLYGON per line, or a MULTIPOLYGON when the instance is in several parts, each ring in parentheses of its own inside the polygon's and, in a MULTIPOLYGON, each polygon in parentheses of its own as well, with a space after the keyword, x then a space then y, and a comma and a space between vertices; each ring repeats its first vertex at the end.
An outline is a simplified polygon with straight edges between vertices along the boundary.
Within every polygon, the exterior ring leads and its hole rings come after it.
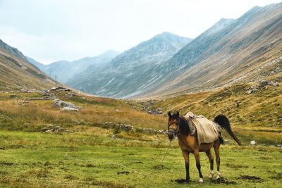
POLYGON ((87 70, 67 84, 92 94, 128 97, 144 92, 159 77, 152 68, 167 61, 191 39, 159 34, 116 56, 104 68, 87 70))

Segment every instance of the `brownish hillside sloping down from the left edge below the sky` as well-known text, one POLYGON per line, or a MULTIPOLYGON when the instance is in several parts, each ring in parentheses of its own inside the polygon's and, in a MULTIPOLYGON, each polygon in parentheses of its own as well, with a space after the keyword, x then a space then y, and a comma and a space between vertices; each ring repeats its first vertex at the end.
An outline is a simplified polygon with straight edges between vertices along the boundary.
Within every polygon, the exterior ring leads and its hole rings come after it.
POLYGON ((0 90, 50 89, 54 81, 0 39, 0 90))

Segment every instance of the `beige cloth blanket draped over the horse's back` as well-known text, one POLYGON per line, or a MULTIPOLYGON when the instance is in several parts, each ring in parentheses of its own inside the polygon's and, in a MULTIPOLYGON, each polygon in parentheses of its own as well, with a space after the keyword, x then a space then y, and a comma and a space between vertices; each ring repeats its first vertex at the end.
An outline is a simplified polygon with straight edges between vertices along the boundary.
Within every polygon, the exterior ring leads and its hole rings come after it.
POLYGON ((219 125, 214 123, 203 115, 195 115, 192 112, 188 112, 184 118, 188 121, 190 134, 197 134, 199 146, 202 143, 211 143, 219 138, 219 125))

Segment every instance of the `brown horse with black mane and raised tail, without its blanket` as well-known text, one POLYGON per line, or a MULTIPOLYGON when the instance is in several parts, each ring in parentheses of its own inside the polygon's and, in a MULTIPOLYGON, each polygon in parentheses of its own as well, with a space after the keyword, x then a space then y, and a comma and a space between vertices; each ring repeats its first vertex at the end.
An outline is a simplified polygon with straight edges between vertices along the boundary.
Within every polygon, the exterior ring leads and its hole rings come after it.
MULTIPOLYGON (((235 136, 233 131, 231 130, 231 125, 229 123, 228 118, 224 115, 218 115, 214 118, 214 123, 223 127, 228 134, 239 144, 242 146, 240 140, 235 136)), ((200 180, 199 182, 203 182, 203 176, 201 172, 200 165, 200 156, 199 152, 205 152, 209 158, 210 163, 210 173, 209 178, 213 178, 214 175, 214 157, 212 156, 211 149, 214 147, 214 151, 216 154, 216 165, 217 165, 217 176, 216 179, 220 179, 219 165, 220 165, 220 157, 219 157, 219 146, 223 144, 223 139, 221 137, 221 132, 219 132, 219 137, 212 143, 202 143, 199 146, 199 142, 197 139, 197 134, 190 135, 190 130, 188 126, 188 121, 183 117, 179 116, 179 113, 168 112, 168 138, 173 140, 174 137, 178 137, 178 144, 182 150, 183 157, 185 160, 185 169, 186 169, 186 178, 184 182, 189 182, 189 154, 194 153, 196 159, 197 170, 199 171, 200 180)))

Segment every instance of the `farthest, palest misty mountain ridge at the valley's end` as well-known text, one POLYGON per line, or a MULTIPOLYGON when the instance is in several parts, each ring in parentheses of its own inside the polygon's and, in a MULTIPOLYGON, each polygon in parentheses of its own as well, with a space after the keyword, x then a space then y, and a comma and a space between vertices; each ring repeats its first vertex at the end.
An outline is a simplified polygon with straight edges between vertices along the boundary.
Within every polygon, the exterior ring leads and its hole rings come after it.
POLYGON ((51 63, 49 65, 43 65, 42 63, 39 63, 35 61, 32 58, 28 58, 30 63, 37 66, 40 70, 42 70, 44 73, 49 75, 49 77, 52 77, 53 79, 57 78, 59 82, 62 82, 66 84, 68 80, 70 80, 74 75, 77 75, 78 73, 82 73, 85 71, 88 66, 104 66, 106 63, 109 63, 111 59, 116 57, 118 54, 120 54, 118 51, 106 51, 104 54, 101 54, 99 56, 95 57, 86 57, 81 58, 76 61, 56 61, 54 63, 51 63))

